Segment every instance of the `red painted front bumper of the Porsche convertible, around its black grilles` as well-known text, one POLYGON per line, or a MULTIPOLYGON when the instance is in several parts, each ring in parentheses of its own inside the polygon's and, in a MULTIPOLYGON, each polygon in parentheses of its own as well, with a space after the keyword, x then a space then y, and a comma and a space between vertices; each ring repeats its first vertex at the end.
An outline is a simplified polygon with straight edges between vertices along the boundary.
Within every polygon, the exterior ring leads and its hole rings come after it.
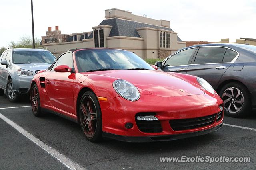
MULTIPOLYGON (((208 94, 160 97, 156 95, 142 95, 139 100, 131 102, 122 97, 108 98, 108 101, 99 101, 102 112, 102 131, 104 134, 114 134, 124 137, 139 139, 141 137, 161 137, 168 135, 181 135, 196 133, 218 127, 223 122, 224 112, 219 106, 223 104, 218 95, 209 96, 208 94), (175 130, 172 129, 170 121, 178 119, 194 119, 217 115, 221 112, 221 119, 214 118, 212 123, 205 126, 191 129, 175 130), (155 117, 161 126, 160 131, 146 132, 141 131, 136 123, 138 113, 155 113, 155 117), (132 123, 133 127, 128 129, 126 123, 132 123)), ((158 124, 158 125, 159 125, 158 124)), ((111 137, 111 135, 108 135, 111 137)))

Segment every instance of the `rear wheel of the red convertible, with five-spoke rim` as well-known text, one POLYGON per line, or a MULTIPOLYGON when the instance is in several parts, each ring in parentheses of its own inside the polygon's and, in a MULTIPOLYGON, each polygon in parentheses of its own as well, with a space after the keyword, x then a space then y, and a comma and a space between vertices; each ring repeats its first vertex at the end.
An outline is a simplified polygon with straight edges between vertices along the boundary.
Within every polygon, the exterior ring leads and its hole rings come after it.
POLYGON ((30 98, 31 98, 31 107, 32 107, 32 112, 34 116, 36 117, 41 117, 43 115, 41 111, 41 106, 40 106, 40 95, 38 91, 38 87, 36 84, 32 87, 31 93, 30 93, 30 98))

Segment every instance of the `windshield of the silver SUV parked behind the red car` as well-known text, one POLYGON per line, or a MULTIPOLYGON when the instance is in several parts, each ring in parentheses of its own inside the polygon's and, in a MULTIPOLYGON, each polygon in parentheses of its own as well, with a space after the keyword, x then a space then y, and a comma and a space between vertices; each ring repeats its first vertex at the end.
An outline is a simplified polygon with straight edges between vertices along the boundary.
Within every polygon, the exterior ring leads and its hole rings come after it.
POLYGON ((49 63, 55 61, 54 55, 49 51, 14 51, 13 63, 29 64, 29 63, 49 63))

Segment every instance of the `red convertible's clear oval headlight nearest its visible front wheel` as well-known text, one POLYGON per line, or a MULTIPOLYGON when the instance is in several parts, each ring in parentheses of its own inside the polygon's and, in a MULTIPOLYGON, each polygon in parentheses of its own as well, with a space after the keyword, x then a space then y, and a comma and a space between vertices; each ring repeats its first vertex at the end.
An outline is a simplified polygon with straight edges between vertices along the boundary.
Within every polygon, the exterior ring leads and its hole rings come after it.
POLYGON ((135 101, 140 98, 139 90, 130 82, 116 80, 113 83, 113 87, 120 96, 127 100, 135 101))

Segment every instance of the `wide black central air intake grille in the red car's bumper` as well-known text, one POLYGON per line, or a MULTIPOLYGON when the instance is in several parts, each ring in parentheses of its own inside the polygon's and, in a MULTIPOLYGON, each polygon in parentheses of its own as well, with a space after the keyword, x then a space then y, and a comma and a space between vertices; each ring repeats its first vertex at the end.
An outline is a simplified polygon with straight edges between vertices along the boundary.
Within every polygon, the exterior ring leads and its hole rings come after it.
POLYGON ((188 129, 195 129, 198 127, 205 127, 208 125, 212 125, 216 119, 216 114, 204 116, 204 117, 196 117, 192 119, 176 119, 170 120, 170 126, 174 131, 182 131, 188 129))

